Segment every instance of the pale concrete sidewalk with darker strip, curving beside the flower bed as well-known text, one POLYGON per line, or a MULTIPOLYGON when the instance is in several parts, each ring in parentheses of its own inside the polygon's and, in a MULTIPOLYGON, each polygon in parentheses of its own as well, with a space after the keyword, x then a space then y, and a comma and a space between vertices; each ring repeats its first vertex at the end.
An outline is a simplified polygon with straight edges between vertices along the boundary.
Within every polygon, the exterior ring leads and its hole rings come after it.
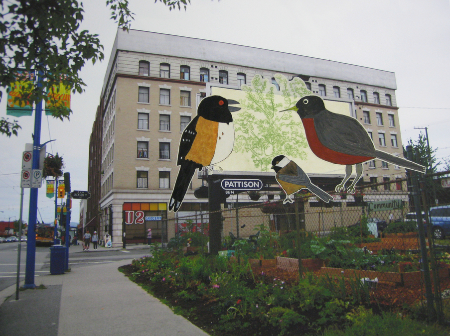
MULTIPOLYGON (((70 248, 70 256, 96 252, 83 252, 81 245, 70 248)), ((145 245, 130 248, 145 248, 145 245)), ((130 263, 131 260, 122 260, 72 268, 61 275, 36 276, 35 285, 46 288, 21 291, 18 301, 15 301, 15 285, 1 291, 0 335, 208 335, 173 314, 118 271, 118 267, 130 263), (9 295, 3 302, 2 298, 9 295)))

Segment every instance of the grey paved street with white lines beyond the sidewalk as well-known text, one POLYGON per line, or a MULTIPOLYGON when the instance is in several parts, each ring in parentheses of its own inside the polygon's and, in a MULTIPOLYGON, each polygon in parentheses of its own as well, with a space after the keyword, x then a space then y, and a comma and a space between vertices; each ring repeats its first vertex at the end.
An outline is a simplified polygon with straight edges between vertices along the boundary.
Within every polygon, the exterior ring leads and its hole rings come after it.
MULTIPOLYGON (((26 243, 22 242, 20 258, 20 280, 25 278, 26 243)), ((0 291, 16 283, 17 243, 0 244, 0 291)), ((146 249, 108 250, 99 247, 96 251, 82 251, 80 246, 69 248, 69 268, 111 263, 114 261, 140 258, 148 255, 146 249)), ((34 276, 46 275, 50 272, 50 249, 48 246, 36 246, 34 276)))

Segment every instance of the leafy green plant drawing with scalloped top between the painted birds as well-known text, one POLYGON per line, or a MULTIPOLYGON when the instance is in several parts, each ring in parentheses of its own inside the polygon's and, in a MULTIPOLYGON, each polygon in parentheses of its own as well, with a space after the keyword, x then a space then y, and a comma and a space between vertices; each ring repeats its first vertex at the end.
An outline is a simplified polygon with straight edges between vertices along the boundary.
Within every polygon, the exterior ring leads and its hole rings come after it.
POLYGON ((268 79, 256 75, 251 85, 243 85, 245 100, 240 101, 241 112, 235 118, 236 152, 250 152, 256 168, 267 172, 276 155, 287 155, 306 160, 303 148, 308 146, 300 117, 280 112, 294 106, 311 92, 304 82, 294 77, 289 81, 276 74, 280 91, 268 79))

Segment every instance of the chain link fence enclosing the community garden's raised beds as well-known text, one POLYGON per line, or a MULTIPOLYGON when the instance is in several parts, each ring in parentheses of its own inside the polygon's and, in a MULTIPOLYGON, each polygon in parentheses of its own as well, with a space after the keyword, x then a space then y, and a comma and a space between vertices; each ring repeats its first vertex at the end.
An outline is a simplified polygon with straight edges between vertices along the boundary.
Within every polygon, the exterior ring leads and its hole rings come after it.
MULTIPOLYGON (((220 212, 219 253, 248 256, 255 265, 291 272, 298 272, 300 265, 302 271, 318 275, 419 290, 428 276, 422 247, 432 270, 429 280, 439 291, 439 279, 448 278, 450 269, 449 173, 423 175, 417 191, 412 180, 416 177, 407 175, 359 187, 354 195, 330 192, 330 203, 303 192, 292 204, 283 204, 284 194, 273 193, 267 202, 228 203, 220 212), (419 199, 419 216, 413 196, 419 199)), ((174 237, 168 239, 169 246, 184 239, 186 252, 207 252, 209 214, 197 211, 167 220, 165 232, 174 237)))

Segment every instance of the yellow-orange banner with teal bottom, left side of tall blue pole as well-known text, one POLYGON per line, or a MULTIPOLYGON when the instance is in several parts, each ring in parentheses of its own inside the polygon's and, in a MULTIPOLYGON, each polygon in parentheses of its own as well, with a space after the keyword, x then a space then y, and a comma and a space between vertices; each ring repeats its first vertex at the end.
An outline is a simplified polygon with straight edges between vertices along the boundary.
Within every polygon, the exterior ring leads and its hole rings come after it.
POLYGON ((6 114, 13 116, 31 115, 33 104, 26 97, 34 88, 34 71, 17 70, 15 81, 7 88, 6 114))

